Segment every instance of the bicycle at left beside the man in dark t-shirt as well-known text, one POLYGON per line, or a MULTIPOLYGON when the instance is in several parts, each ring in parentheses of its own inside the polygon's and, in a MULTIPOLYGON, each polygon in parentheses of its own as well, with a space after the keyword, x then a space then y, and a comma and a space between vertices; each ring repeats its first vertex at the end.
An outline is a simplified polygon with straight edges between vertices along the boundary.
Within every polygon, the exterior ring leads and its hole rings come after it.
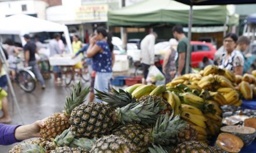
POLYGON ((16 64, 16 83, 24 90, 25 92, 33 92, 36 86, 35 74, 31 71, 32 67, 23 67, 23 64, 20 64, 20 59, 18 58, 15 62, 16 64))

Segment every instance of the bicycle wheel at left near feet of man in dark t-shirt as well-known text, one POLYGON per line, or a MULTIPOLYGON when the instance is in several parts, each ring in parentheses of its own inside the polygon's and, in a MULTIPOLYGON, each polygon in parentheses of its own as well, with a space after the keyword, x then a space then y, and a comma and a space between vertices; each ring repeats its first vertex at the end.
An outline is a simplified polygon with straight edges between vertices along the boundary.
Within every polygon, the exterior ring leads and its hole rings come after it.
POLYGON ((33 92, 35 89, 35 78, 27 71, 19 71, 18 84, 25 92, 33 92))

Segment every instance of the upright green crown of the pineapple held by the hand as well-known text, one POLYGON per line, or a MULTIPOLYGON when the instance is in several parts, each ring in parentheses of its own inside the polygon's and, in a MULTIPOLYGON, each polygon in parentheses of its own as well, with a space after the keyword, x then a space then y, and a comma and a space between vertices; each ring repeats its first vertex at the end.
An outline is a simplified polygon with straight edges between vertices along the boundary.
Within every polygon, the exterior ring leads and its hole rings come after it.
POLYGON ((73 85, 73 91, 69 94, 68 97, 66 97, 64 113, 67 116, 70 116, 74 107, 84 103, 84 101, 85 101, 84 99, 86 98, 86 96, 89 92, 90 92, 89 86, 87 86, 86 88, 84 88, 82 90, 81 82, 77 83, 76 86, 73 85))

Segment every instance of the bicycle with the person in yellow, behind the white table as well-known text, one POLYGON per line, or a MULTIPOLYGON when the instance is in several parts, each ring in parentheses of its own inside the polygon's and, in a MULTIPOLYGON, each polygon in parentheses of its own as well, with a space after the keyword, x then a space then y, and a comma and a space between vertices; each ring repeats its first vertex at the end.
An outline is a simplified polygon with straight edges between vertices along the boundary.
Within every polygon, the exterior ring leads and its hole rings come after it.
POLYGON ((81 71, 80 69, 75 68, 73 72, 73 66, 66 66, 62 68, 65 75, 66 85, 69 85, 72 81, 76 80, 76 77, 80 77, 85 82, 90 81, 91 76, 88 69, 88 64, 84 59, 82 60, 82 64, 83 64, 83 68, 81 68, 81 71))

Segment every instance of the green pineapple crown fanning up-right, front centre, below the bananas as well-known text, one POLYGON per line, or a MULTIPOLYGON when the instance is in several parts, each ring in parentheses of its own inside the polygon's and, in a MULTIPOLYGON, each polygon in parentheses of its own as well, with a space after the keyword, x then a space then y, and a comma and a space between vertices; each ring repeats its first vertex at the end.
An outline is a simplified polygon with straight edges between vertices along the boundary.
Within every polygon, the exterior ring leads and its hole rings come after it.
POLYGON ((161 115, 157 119, 157 122, 155 122, 155 126, 151 132, 154 143, 160 145, 172 144, 172 138, 179 133, 179 130, 182 130, 186 126, 187 122, 180 119, 179 115, 173 119, 171 117, 169 118, 168 114, 161 115))

